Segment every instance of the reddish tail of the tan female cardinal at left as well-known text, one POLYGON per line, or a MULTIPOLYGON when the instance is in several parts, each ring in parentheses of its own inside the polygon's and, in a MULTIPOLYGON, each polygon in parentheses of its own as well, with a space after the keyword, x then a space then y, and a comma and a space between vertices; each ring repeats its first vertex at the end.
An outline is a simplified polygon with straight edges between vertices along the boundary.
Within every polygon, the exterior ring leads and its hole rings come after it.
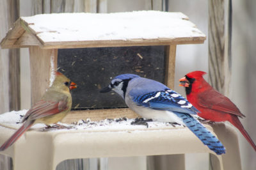
POLYGON ((9 146, 11 146, 19 137, 24 134, 31 126, 33 125, 32 122, 25 122, 1 147, 0 151, 6 150, 9 146))

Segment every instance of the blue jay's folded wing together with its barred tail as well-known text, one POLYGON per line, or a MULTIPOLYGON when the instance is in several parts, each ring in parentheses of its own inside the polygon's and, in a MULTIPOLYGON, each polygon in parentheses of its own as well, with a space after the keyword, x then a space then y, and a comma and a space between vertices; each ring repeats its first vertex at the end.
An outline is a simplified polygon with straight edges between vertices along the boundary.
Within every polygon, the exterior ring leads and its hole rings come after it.
POLYGON ((218 155, 225 153, 223 144, 204 125, 190 115, 199 111, 179 93, 171 89, 165 89, 138 95, 133 97, 132 100, 137 105, 150 109, 172 111, 210 150, 218 155))

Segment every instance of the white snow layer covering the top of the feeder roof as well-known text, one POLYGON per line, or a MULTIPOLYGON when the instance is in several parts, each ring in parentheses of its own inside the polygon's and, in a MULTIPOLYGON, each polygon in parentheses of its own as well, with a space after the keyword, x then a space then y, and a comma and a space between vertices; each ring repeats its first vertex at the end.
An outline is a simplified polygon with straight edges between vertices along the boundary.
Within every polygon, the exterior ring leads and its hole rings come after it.
POLYGON ((205 36, 180 12, 52 13, 21 19, 44 42, 205 36))

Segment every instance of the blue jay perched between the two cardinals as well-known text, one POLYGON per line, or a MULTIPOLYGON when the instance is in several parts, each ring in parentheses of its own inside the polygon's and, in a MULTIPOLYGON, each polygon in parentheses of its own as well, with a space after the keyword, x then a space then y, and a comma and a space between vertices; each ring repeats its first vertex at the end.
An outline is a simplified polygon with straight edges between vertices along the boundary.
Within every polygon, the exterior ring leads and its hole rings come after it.
POLYGON ((125 104, 143 118, 162 122, 175 122, 188 127, 208 148, 218 155, 225 153, 221 142, 195 120, 191 114, 199 112, 179 93, 161 82, 134 74, 116 76, 101 93, 115 91, 125 104))

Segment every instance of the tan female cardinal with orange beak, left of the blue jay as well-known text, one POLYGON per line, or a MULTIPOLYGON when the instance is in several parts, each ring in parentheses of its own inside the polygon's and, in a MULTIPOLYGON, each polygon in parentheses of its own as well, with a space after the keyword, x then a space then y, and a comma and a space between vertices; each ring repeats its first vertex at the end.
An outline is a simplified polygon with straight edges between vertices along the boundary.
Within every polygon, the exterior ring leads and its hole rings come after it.
POLYGON ((61 121, 68 114, 72 105, 70 90, 76 88, 76 83, 60 72, 55 72, 55 75, 52 86, 29 109, 22 121, 23 125, 0 147, 0 151, 6 150, 35 123, 50 125, 61 121))

